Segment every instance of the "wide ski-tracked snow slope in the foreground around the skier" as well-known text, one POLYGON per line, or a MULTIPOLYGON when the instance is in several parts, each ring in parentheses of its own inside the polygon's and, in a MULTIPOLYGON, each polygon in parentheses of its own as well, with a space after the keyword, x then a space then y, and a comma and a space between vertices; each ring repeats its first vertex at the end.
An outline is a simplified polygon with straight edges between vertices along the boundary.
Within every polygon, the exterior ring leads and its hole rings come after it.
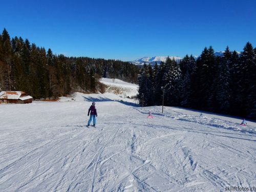
POLYGON ((0 105, 0 191, 256 186, 256 123, 170 107, 161 114, 160 106, 119 98, 76 93, 60 102, 0 105), (85 126, 92 101, 96 128, 85 126))

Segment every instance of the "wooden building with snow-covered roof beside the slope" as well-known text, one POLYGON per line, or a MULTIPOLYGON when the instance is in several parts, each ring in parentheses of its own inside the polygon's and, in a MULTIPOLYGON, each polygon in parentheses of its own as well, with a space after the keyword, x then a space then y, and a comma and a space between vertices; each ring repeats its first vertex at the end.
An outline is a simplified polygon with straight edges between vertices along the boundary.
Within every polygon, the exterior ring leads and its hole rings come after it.
POLYGON ((33 97, 23 91, 0 92, 0 103, 32 103, 33 97))

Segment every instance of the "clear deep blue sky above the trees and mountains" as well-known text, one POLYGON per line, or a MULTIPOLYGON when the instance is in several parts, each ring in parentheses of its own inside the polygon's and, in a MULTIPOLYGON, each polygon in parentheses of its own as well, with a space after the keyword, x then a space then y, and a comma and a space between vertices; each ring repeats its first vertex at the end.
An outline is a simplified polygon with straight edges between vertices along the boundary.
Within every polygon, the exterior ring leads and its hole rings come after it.
POLYGON ((134 60, 256 46, 255 0, 9 0, 1 7, 1 31, 66 56, 134 60))

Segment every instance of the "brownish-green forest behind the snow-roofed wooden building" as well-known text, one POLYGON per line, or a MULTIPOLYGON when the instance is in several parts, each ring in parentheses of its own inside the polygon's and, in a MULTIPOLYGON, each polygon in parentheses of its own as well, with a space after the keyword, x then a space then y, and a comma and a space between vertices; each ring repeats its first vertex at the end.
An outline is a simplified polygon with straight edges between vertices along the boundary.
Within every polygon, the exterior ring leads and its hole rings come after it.
POLYGON ((137 82, 139 68, 120 60, 66 57, 0 34, 0 91, 24 91, 34 98, 59 97, 74 91, 100 91, 101 77, 137 82))

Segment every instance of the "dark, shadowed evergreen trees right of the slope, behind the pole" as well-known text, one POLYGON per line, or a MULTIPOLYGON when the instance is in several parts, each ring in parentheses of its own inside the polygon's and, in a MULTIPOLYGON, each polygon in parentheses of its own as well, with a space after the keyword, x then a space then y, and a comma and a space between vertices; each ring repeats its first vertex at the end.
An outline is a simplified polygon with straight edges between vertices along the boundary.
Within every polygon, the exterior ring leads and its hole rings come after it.
POLYGON ((247 42, 243 52, 226 47, 216 56, 210 46, 195 60, 179 63, 167 58, 160 65, 144 65, 138 75, 143 106, 183 106, 256 119, 256 48, 247 42))

